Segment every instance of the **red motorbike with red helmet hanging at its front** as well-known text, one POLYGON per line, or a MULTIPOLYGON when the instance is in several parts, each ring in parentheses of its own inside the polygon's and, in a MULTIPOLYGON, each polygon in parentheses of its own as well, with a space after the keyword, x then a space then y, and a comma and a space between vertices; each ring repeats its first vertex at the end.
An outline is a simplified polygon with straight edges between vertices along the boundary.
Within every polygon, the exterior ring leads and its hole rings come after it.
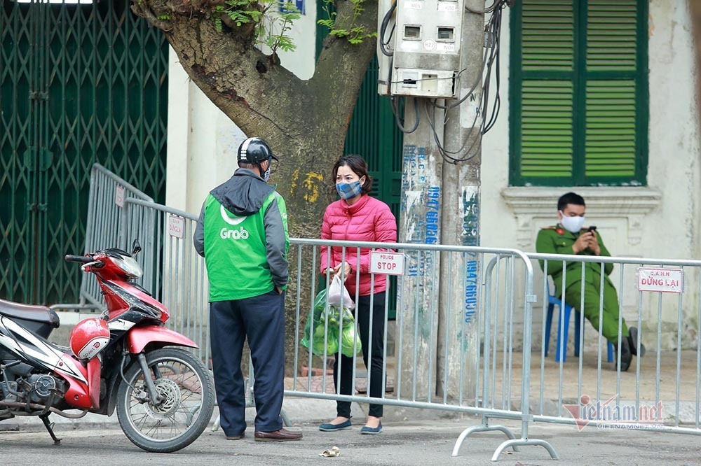
POLYGON ((168 309, 136 283, 142 269, 121 249, 67 255, 95 274, 107 302, 100 318, 81 320, 70 347, 48 341, 60 325, 48 307, 0 299, 0 421, 39 416, 55 444, 48 416, 80 418, 88 412, 111 416, 137 446, 160 453, 191 444, 207 427, 214 409, 214 384, 191 353, 197 348, 168 330, 168 309), (79 409, 82 412, 67 412, 79 409))

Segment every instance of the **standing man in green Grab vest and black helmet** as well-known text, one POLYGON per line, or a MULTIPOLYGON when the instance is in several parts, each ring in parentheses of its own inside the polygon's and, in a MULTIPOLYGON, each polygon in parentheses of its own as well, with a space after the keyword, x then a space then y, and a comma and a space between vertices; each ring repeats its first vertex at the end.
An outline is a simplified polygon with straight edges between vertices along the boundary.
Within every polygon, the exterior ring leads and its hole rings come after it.
POLYGON ((256 385, 254 439, 299 440, 283 429, 287 210, 268 185, 278 157, 266 141, 248 138, 238 148, 238 170, 213 189, 200 211, 193 241, 205 257, 210 281, 212 371, 227 439, 246 429, 241 357, 248 339, 256 385))

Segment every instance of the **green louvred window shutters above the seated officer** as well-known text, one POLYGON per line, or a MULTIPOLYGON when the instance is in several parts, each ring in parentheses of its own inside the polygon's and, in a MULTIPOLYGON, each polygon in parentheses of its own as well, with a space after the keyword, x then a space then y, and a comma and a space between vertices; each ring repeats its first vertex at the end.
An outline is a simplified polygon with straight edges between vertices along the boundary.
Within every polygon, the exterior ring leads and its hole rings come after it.
POLYGON ((512 185, 645 183, 646 28, 646 0, 517 3, 512 185))

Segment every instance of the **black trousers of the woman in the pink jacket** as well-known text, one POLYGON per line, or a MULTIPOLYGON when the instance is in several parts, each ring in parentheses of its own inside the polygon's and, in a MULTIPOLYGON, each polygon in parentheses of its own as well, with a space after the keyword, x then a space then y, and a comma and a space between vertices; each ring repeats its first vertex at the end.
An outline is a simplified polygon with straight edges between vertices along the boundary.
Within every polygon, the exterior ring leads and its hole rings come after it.
MULTIPOLYGON (((355 306, 355 319, 358 321, 358 332, 360 332, 362 361, 365 362, 365 367, 368 369, 370 377, 369 395, 374 398, 381 398, 385 389, 385 383, 382 379, 385 341, 385 292, 375 293, 372 299, 373 309, 371 310, 370 296, 358 297, 358 302, 355 306), (371 321, 372 335, 370 335, 371 321), (372 346, 369 344, 369 341, 372 341, 372 346), (367 364, 369 359, 370 365, 367 364)), ((339 370, 341 372, 340 393, 341 395, 351 395, 353 358, 336 353, 336 362, 334 362, 334 387, 336 388, 336 393, 339 393, 339 370)), ((344 418, 350 418, 351 402, 337 401, 336 414, 344 418)), ((370 404, 368 415, 381 418, 382 405, 370 404)))

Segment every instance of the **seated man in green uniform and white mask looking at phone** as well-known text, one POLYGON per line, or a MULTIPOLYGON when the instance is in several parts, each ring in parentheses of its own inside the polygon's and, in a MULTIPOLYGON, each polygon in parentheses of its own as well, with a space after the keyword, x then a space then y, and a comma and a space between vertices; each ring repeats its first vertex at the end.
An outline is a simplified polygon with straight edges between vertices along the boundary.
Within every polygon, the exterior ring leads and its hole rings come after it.
MULTIPOLYGON (((599 233, 593 229, 583 228, 585 222, 585 203, 583 197, 568 192, 557 201, 557 216, 559 223, 554 227, 544 227, 538 232, 536 239, 536 251, 545 254, 576 254, 576 255, 601 255, 610 256, 599 233)), ((540 260, 540 268, 545 263, 540 260)), ((552 276, 555 285, 555 296, 562 296, 565 292, 565 302, 575 309, 579 309, 582 303, 582 284, 584 281, 584 316, 599 330, 599 295, 601 292, 601 264, 596 262, 584 263, 584 276, 582 276, 582 263, 569 262, 566 264, 566 273, 563 271, 562 262, 552 260, 547 262, 547 274, 552 276), (562 278, 565 276, 563 283, 562 278)), ((604 313, 601 322, 601 334, 618 347, 618 295, 608 275, 613 271, 613 264, 604 264, 604 313)), ((620 369, 627 371, 634 355, 643 356, 645 346, 637 348, 637 329, 627 327, 625 320, 621 319, 620 334, 620 369)))

